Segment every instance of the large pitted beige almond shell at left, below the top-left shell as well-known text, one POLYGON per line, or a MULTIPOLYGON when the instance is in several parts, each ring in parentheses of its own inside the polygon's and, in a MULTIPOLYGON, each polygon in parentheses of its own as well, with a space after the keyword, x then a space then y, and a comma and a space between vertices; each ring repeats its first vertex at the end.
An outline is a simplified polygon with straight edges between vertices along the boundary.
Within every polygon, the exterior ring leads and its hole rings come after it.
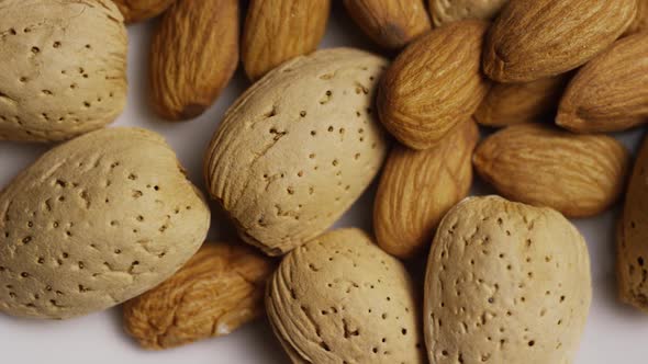
POLYGON ((174 274, 209 225, 159 135, 109 128, 70 140, 0 192, 0 311, 62 319, 121 304, 174 274))

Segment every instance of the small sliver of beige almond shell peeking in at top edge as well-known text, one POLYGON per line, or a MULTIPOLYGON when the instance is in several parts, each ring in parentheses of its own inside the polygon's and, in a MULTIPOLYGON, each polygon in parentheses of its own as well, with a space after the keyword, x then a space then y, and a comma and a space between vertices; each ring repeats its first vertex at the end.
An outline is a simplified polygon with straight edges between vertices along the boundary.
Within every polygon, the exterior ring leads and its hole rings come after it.
POLYGON ((509 0, 429 0, 434 25, 466 19, 491 20, 509 0))

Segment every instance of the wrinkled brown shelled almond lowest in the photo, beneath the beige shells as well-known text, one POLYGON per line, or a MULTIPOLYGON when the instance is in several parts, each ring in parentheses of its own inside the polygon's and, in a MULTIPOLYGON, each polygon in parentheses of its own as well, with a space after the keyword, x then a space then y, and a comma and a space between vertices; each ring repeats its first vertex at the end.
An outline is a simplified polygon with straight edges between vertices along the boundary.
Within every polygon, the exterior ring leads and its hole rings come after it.
POLYGON ((149 350, 228 334, 264 315, 273 268, 252 247, 206 242, 170 278, 124 304, 124 329, 149 350))

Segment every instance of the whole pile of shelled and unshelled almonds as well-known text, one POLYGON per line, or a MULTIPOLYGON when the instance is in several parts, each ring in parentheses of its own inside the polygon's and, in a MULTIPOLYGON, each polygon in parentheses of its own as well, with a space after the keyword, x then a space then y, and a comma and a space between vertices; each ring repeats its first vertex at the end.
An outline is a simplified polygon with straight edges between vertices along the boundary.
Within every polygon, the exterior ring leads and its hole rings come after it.
POLYGON ((648 122, 648 0, 340 4, 382 55, 317 50, 329 0, 0 0, 0 143, 64 141, 0 191, 0 311, 124 304, 152 350, 266 316, 293 363, 572 363, 592 280, 566 217, 619 201, 619 297, 648 311, 648 143, 633 167, 603 134, 648 122), (104 128, 125 24, 158 15, 160 117, 239 59, 250 80, 204 193, 161 136, 104 128), (473 169, 500 196, 467 197, 473 169), (373 234, 327 231, 375 180, 373 234))

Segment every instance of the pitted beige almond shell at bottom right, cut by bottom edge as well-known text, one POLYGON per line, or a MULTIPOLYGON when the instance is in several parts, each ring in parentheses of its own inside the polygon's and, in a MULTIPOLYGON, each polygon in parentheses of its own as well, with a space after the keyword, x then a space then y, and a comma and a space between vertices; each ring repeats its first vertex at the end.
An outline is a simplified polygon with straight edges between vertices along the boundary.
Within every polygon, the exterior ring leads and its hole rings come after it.
POLYGON ((573 363, 592 299, 583 237, 550 208, 471 197, 427 263, 431 363, 573 363))

